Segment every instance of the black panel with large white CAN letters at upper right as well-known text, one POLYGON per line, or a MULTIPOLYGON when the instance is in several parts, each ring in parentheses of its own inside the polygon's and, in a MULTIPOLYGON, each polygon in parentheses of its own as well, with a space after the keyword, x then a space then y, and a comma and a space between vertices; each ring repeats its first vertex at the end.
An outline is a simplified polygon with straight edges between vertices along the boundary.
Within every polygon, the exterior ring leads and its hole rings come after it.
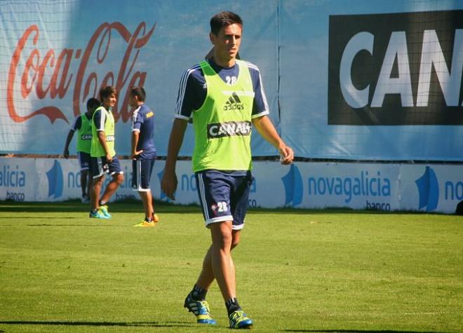
POLYGON ((463 11, 330 15, 328 125, 463 125, 463 11))

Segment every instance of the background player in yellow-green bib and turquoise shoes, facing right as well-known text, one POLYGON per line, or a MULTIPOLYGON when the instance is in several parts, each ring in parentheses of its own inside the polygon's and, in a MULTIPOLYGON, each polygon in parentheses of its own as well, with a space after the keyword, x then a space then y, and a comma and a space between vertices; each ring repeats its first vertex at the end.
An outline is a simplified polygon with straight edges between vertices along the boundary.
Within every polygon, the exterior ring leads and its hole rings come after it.
POLYGON ((100 90, 100 100, 102 105, 93 114, 92 145, 90 149, 90 165, 93 175, 90 217, 109 219, 111 215, 108 212, 106 203, 123 182, 121 163, 119 163, 114 150, 115 123, 112 108, 117 101, 116 88, 112 86, 102 88, 100 90), (105 192, 100 198, 105 173, 109 173, 112 180, 107 184, 105 192))

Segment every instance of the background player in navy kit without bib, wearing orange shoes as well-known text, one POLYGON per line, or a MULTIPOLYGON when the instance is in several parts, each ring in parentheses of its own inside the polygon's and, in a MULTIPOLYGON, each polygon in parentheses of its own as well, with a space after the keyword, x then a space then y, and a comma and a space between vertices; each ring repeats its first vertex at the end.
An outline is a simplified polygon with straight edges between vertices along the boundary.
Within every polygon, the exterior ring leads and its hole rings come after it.
POLYGON ((154 112, 145 104, 146 93, 141 87, 130 88, 128 102, 135 107, 132 114, 132 187, 138 191, 145 209, 145 219, 135 226, 154 226, 159 217, 154 214, 149 181, 156 159, 154 146, 154 112))

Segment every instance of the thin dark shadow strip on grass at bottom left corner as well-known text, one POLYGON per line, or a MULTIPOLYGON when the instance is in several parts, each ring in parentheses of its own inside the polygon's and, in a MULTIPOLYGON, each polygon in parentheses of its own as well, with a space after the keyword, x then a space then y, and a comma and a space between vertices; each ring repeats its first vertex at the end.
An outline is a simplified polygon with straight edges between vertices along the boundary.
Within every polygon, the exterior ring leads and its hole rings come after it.
MULTIPOLYGON (((51 326, 107 326, 107 327, 194 327, 189 322, 79 322, 79 321, 39 321, 7 320, 0 325, 51 325, 51 326)), ((4 331, 0 331, 4 332, 4 331)))

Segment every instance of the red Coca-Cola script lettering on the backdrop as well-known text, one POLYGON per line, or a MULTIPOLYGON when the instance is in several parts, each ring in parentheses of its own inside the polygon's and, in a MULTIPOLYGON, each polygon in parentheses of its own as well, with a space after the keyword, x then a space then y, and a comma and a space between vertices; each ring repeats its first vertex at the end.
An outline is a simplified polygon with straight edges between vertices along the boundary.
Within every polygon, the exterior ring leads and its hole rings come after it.
POLYGON ((140 22, 135 31, 130 33, 120 22, 105 22, 95 30, 83 52, 81 48, 76 50, 65 48, 60 53, 54 49, 43 53, 43 48, 39 48, 41 42, 39 27, 29 26, 18 40, 11 57, 6 90, 8 114, 11 119, 16 123, 22 123, 42 114, 47 116, 51 123, 57 119, 69 123, 65 113, 53 105, 53 100, 63 99, 68 93, 72 94, 73 113, 74 116, 78 116, 85 112, 80 108, 81 102, 85 102, 90 97, 98 97, 100 87, 115 86, 119 98, 112 110, 114 120, 118 121, 122 118, 125 123, 130 119, 128 88, 144 86, 147 77, 147 72, 136 70, 135 64, 140 50, 148 43, 155 27, 156 24, 147 31, 145 22, 140 22), (114 33, 117 33, 116 36, 114 33), (107 60, 116 56, 114 50, 117 51, 117 57, 120 57, 121 50, 114 48, 114 39, 120 37, 126 42, 126 51, 118 69, 114 68, 114 64, 108 64, 107 60), (30 52, 26 53, 25 50, 30 52), (97 67, 100 69, 99 72, 97 67), (105 74, 100 74, 99 77, 97 73, 101 72, 105 74), (74 91, 69 92, 69 88, 73 88, 74 91), (50 105, 36 110, 18 109, 15 107, 15 101, 19 98, 23 100, 36 98, 43 100, 43 104, 50 103, 50 105))

